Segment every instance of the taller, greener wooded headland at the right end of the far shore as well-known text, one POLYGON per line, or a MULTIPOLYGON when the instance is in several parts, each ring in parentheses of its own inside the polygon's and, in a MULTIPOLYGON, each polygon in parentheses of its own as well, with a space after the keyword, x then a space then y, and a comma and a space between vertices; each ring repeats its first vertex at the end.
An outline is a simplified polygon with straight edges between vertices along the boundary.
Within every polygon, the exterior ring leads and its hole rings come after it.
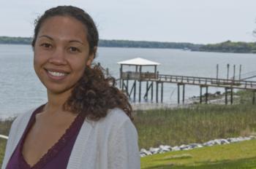
POLYGON ((206 52, 238 52, 256 53, 256 42, 222 42, 219 44, 206 44, 199 48, 206 52))

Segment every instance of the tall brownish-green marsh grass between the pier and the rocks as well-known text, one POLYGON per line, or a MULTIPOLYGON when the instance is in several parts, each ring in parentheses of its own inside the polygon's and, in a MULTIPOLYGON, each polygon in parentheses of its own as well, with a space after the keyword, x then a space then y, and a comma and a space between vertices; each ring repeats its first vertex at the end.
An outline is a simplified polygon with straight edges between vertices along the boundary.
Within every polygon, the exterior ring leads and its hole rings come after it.
POLYGON ((250 135, 256 131, 256 106, 196 105, 184 109, 138 111, 140 148, 203 143, 214 138, 250 135))

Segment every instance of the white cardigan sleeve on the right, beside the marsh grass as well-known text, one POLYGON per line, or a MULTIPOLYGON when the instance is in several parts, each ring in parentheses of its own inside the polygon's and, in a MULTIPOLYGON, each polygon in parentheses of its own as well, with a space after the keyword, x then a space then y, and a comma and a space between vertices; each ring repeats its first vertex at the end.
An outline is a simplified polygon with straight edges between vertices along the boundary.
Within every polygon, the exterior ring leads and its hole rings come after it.
POLYGON ((129 119, 113 133, 108 151, 109 169, 140 169, 138 133, 129 119))

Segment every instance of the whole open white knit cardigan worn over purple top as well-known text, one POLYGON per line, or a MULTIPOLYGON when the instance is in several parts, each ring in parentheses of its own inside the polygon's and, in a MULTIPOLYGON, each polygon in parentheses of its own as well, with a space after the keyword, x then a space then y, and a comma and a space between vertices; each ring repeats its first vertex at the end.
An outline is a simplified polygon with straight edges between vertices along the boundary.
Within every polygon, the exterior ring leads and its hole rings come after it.
MULTIPOLYGON (((12 123, 4 161, 5 169, 34 110, 12 123)), ((97 122, 86 119, 73 146, 68 169, 139 169, 138 133, 121 109, 112 109, 97 122)))

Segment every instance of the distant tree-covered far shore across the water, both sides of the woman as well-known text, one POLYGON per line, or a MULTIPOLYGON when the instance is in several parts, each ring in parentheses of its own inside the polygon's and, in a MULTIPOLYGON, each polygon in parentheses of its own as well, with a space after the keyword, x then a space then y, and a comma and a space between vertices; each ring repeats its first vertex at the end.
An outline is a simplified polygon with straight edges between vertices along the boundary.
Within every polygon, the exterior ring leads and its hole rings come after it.
MULTIPOLYGON (((0 36, 0 44, 31 44, 32 38, 0 36)), ((192 44, 178 42, 147 42, 128 40, 99 40, 99 47, 140 47, 181 49, 206 52, 249 52, 256 53, 256 42, 222 42, 219 44, 192 44)))

